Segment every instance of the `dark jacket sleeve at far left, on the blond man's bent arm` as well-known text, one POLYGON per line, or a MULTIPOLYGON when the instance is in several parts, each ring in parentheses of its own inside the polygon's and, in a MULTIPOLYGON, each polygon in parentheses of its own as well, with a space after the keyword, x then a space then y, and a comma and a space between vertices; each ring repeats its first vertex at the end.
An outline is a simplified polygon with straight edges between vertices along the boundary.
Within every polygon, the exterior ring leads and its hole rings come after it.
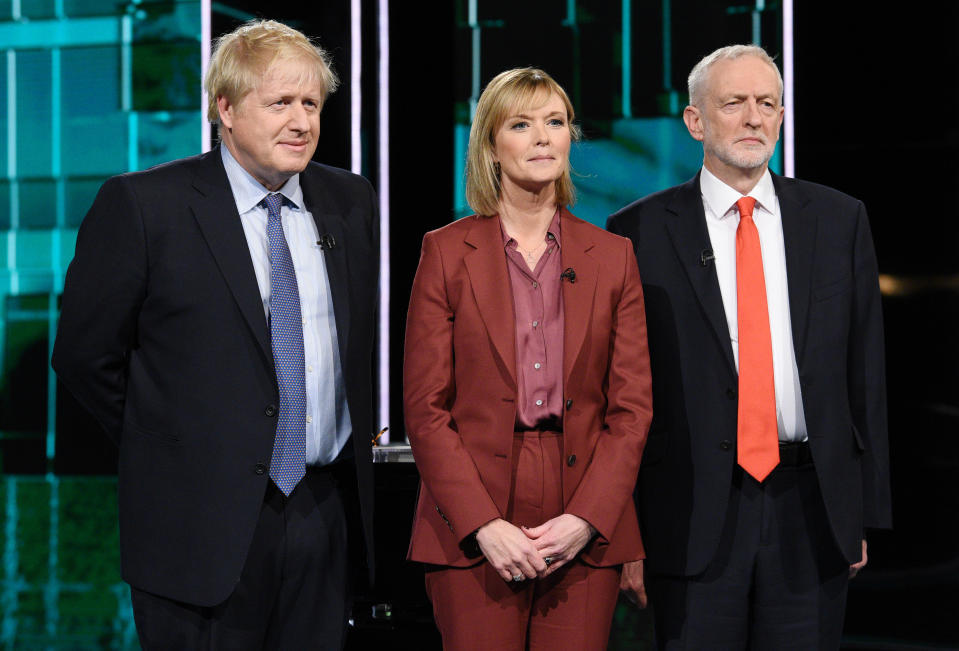
POLYGON ((67 271, 53 367, 115 443, 120 441, 129 351, 146 295, 143 223, 125 177, 107 181, 80 226, 67 271))

